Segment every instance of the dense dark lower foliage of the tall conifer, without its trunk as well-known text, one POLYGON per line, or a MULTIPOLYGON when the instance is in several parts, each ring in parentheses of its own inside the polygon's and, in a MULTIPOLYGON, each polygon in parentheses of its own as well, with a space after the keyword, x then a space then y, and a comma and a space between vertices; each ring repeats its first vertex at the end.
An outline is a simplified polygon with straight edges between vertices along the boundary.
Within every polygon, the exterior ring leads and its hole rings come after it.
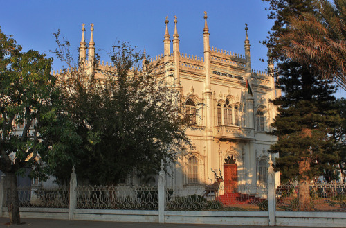
POLYGON ((279 105, 279 114, 272 124, 278 137, 270 152, 278 152, 275 169, 284 179, 312 179, 332 168, 334 153, 330 150, 334 139, 330 133, 340 124, 340 116, 334 106, 334 87, 325 80, 318 80, 299 64, 281 64, 278 82, 285 96, 273 101, 279 105), (286 68, 287 67, 287 68, 286 68), (309 135, 303 135, 304 129, 309 135), (309 160, 310 168, 300 172, 300 161, 309 160))

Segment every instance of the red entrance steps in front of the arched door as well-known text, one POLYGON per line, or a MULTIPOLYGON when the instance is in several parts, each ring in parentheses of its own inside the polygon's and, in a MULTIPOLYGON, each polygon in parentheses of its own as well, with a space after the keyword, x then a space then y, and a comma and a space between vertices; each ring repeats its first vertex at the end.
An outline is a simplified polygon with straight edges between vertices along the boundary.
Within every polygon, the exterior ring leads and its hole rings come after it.
POLYGON ((217 201, 221 202, 225 206, 235 205, 235 204, 257 204, 262 202, 264 199, 258 198, 255 195, 248 195, 243 193, 225 193, 224 195, 219 195, 217 201))

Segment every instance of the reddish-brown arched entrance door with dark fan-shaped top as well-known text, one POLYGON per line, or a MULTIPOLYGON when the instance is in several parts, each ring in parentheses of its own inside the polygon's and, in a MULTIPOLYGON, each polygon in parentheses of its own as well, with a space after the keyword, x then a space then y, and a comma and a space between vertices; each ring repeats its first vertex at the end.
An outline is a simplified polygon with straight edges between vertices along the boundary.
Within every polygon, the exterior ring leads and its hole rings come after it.
POLYGON ((237 178, 237 164, 235 164, 236 159, 233 158, 233 155, 229 155, 225 159, 224 163, 224 186, 226 193, 236 193, 238 186, 237 178))

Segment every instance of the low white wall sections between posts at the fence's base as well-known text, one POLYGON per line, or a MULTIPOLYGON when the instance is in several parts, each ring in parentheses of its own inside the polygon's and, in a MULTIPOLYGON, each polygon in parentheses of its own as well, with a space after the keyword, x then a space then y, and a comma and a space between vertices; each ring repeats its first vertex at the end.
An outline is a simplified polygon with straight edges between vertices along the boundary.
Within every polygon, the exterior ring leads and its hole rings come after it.
MULTIPOLYGON (((21 218, 69 219, 69 209, 21 207, 21 218)), ((268 211, 165 211, 165 223, 269 225, 268 211)), ((3 217, 8 211, 3 210, 3 217)), ((277 226, 345 227, 344 212, 276 211, 277 226)), ((158 222, 158 211, 75 209, 75 220, 158 222)))

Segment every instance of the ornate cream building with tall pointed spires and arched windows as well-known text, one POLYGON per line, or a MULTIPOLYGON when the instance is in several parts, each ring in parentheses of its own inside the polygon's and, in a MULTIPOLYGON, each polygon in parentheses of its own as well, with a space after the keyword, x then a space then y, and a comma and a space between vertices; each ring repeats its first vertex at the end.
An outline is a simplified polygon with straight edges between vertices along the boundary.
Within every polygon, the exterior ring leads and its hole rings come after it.
MULTIPOLYGON (((240 186, 253 187, 266 184, 268 149, 276 138, 266 134, 276 115, 276 107, 269 100, 280 96, 272 76, 251 69, 251 49, 246 25, 244 55, 210 48, 207 14, 204 15, 203 57, 181 54, 177 19, 171 40, 168 19, 165 20, 163 54, 152 62, 163 64, 161 73, 174 77, 174 87, 181 92, 186 112, 197 129, 187 130, 195 149, 181 157, 171 167, 169 186, 210 184, 215 171, 224 177, 224 189, 239 191, 240 186)), ((88 60, 88 70, 95 71, 95 42, 93 24, 91 39, 86 47, 82 26, 80 60, 88 60)), ((95 68, 111 67, 99 63, 95 68)), ((270 67, 273 67, 271 65, 270 67)), ((277 174, 278 175, 278 174, 277 174)), ((276 178, 279 179, 278 176, 276 178)))

